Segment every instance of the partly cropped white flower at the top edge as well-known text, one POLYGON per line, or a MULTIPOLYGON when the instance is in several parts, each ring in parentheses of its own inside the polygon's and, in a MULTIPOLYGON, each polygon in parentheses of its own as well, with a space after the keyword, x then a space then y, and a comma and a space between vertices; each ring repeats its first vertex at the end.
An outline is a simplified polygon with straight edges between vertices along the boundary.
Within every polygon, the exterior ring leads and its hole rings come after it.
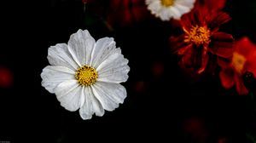
POLYGON ((146 0, 151 14, 161 20, 179 20, 194 7, 195 0, 146 0))

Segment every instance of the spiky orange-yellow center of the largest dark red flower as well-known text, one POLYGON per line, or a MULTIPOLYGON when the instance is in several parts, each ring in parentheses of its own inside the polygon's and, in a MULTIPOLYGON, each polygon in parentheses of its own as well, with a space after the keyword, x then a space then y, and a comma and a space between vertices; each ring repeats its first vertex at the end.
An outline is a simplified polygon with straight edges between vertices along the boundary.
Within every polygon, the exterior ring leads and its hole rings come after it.
POLYGON ((184 28, 183 31, 187 33, 184 40, 186 43, 195 43, 196 46, 199 46, 211 42, 210 31, 206 26, 192 26, 190 31, 187 31, 184 28))

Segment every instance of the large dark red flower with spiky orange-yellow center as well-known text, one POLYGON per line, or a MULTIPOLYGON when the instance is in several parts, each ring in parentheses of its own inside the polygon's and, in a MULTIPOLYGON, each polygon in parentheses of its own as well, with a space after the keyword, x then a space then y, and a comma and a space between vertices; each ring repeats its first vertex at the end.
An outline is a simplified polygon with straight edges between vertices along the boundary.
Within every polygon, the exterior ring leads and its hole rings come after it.
POLYGON ((181 56, 181 64, 197 73, 205 71, 212 55, 230 58, 234 42, 230 34, 218 31, 219 26, 230 20, 229 14, 219 11, 222 4, 215 4, 215 8, 207 4, 212 1, 203 1, 204 5, 199 2, 181 18, 183 35, 170 38, 172 50, 181 56))

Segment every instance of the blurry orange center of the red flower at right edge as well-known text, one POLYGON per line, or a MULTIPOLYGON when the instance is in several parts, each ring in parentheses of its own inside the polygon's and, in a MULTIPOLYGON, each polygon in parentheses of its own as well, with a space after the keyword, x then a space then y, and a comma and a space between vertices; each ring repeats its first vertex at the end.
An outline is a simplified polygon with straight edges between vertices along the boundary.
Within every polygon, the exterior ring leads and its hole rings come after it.
POLYGON ((238 54, 237 52, 234 52, 233 58, 232 58, 232 66, 235 67, 236 72, 241 73, 246 61, 247 59, 243 55, 238 54))

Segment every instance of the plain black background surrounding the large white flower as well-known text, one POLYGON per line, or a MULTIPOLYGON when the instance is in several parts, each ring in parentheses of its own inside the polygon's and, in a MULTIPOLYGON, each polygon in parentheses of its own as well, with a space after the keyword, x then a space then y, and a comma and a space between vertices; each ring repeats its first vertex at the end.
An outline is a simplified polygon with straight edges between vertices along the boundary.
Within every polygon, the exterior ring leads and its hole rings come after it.
MULTIPOLYGON (((98 3, 108 7, 106 1, 98 3)), ((95 15, 90 6, 97 5, 86 5, 84 13, 79 0, 1 3, 0 66, 9 69, 13 80, 0 89, 0 141, 247 143, 256 139, 253 96, 223 89, 218 74, 187 77, 170 53, 168 37, 179 31, 170 22, 149 16, 129 26, 115 24, 109 31, 102 23, 105 15, 95 15), (88 16, 90 21, 84 20, 88 16), (88 29, 95 39, 114 37, 131 67, 128 81, 122 83, 127 90, 124 104, 85 121, 79 112, 61 107, 55 94, 41 86, 40 77, 49 65, 49 46, 67 43, 79 29, 88 29)), ((221 30, 256 43, 255 8, 253 0, 228 1, 224 11, 232 20, 221 30)))

